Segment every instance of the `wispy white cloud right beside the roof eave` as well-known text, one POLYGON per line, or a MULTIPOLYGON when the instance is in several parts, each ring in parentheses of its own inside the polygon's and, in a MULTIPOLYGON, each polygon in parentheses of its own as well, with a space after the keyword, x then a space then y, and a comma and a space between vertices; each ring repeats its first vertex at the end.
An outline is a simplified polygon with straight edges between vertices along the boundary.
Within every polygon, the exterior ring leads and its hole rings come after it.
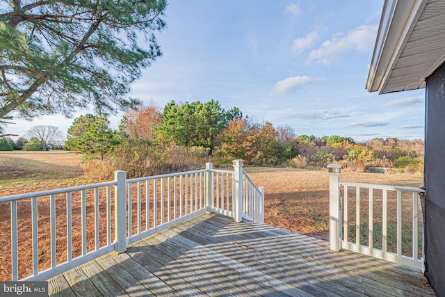
POLYGON ((332 60, 341 58, 348 51, 371 51, 374 47, 377 25, 363 25, 349 31, 346 35, 337 33, 323 42, 319 49, 313 49, 309 59, 330 65, 332 60))

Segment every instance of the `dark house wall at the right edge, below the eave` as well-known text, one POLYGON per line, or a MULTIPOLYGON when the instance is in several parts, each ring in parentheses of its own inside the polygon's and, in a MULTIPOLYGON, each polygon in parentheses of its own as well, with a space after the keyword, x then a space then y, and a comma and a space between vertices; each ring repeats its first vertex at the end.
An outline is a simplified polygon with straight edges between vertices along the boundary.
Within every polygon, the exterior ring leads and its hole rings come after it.
POLYGON ((426 277, 445 296, 445 64, 426 80, 426 277))

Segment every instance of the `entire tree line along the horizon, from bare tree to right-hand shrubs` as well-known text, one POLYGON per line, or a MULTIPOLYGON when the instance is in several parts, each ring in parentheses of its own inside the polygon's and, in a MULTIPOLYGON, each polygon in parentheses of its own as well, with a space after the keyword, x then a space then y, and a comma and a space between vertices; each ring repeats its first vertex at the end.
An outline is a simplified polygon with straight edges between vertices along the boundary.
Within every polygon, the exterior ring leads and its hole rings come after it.
MULTIPOLYGON (((34 126, 26 136, 17 141, 2 138, 0 150, 54 149, 61 139, 54 126, 34 126)), ((233 159, 254 166, 297 168, 321 168, 336 162, 359 171, 373 166, 423 168, 423 141, 373 138, 357 143, 338 135, 297 136, 288 125, 255 122, 236 106, 226 111, 213 99, 172 101, 163 109, 139 105, 124 114, 116 130, 105 115, 81 115, 68 129, 64 148, 81 152, 91 174, 100 170, 104 176, 115 168, 141 176, 195 168, 206 161, 230 164, 233 159)))

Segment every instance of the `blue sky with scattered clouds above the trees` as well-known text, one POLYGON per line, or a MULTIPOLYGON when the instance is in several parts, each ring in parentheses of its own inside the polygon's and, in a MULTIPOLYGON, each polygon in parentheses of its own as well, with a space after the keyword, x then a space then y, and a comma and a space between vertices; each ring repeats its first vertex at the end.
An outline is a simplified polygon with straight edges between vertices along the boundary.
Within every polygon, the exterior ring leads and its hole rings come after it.
MULTIPOLYGON (((143 70, 131 96, 163 108, 216 99, 225 109, 297 135, 424 138, 425 90, 389 95, 365 89, 382 0, 169 1, 163 56, 143 70)), ((78 115, 86 113, 82 111, 78 115)), ((112 117, 118 127, 121 114, 112 117)), ((57 125, 53 115, 16 120, 8 132, 57 125)))

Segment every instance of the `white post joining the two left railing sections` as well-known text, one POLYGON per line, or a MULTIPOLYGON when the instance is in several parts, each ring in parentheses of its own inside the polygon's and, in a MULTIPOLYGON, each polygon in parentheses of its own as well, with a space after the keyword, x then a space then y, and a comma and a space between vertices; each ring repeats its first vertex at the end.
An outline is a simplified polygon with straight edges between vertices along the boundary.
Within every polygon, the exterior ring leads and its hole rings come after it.
POLYGON ((114 242, 118 253, 127 250, 127 172, 114 172, 114 242))

